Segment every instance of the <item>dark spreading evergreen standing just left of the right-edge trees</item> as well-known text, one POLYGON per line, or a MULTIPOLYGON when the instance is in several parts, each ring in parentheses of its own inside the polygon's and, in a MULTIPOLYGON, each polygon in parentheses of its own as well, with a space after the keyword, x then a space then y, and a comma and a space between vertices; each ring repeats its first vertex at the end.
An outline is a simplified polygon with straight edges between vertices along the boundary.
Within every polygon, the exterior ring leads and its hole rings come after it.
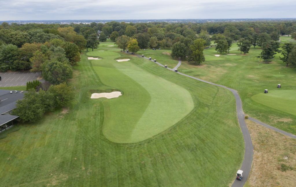
POLYGON ((279 44, 277 44, 278 42, 276 41, 267 41, 262 43, 262 52, 259 56, 257 56, 258 58, 262 58, 263 62, 271 62, 271 59, 274 58, 274 55, 276 55, 276 52, 279 52, 278 48, 279 48, 279 44))

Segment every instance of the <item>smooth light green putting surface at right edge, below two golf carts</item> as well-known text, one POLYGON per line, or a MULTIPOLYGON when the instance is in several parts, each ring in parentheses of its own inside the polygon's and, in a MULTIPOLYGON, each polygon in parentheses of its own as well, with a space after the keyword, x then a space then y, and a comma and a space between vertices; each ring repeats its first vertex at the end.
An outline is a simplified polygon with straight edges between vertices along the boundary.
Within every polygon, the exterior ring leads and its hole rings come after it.
POLYGON ((260 93, 252 96, 257 103, 275 108, 277 110, 296 115, 296 90, 270 90, 267 94, 260 93))

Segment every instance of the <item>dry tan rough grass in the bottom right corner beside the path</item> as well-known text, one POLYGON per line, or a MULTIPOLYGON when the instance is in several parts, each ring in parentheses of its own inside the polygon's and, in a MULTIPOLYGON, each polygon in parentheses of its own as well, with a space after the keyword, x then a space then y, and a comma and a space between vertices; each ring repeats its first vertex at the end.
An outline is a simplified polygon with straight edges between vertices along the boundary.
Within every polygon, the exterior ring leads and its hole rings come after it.
POLYGON ((296 183, 296 140, 246 120, 254 156, 248 187, 285 186, 296 183))

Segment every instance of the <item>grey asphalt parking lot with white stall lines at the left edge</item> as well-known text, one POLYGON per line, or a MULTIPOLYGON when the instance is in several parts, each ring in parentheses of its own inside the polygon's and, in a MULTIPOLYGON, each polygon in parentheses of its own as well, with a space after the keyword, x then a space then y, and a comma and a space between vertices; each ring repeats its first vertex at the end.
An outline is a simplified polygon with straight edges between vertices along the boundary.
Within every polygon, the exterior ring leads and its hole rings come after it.
MULTIPOLYGON (((31 72, 8 72, 0 73, 1 81, 0 87, 11 87, 11 86, 23 86, 26 85, 28 81, 33 81, 38 78, 38 73, 31 72)), ((39 80, 44 82, 43 79, 39 80)))

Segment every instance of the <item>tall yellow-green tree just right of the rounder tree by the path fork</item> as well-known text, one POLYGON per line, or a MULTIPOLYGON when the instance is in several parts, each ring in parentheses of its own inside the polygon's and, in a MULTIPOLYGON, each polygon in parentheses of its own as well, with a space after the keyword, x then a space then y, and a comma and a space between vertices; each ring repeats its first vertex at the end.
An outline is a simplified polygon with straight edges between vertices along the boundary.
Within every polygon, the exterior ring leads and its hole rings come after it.
POLYGON ((188 56, 189 63, 200 65, 200 63, 205 61, 205 55, 203 54, 205 43, 204 39, 194 40, 193 45, 190 46, 192 53, 188 56))

